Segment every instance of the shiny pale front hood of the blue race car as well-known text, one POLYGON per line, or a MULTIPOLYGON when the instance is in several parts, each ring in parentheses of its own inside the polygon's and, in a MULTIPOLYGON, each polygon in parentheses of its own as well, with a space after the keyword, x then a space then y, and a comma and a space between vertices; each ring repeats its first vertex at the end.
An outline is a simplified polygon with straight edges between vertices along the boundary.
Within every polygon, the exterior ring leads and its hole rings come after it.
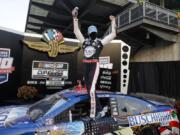
MULTIPOLYGON (((0 108, 0 127, 15 124, 20 118, 27 118, 28 106, 5 106, 0 108)), ((23 120, 25 121, 25 119, 23 120)))

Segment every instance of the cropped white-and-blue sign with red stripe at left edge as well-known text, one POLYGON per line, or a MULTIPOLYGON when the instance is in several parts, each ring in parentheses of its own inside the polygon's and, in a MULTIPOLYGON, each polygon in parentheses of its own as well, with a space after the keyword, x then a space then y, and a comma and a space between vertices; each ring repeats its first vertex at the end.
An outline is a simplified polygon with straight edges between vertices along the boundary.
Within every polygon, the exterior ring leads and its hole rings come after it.
POLYGON ((0 84, 7 82, 9 73, 15 70, 12 67, 13 58, 10 57, 10 52, 8 48, 0 48, 0 84))

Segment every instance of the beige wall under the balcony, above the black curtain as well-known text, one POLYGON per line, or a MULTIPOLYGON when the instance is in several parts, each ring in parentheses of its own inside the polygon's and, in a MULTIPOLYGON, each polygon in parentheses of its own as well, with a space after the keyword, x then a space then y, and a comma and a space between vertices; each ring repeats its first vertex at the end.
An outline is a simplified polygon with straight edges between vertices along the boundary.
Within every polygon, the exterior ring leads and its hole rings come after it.
POLYGON ((155 47, 142 48, 131 58, 131 62, 163 62, 180 61, 180 33, 176 43, 171 45, 155 45, 155 47))

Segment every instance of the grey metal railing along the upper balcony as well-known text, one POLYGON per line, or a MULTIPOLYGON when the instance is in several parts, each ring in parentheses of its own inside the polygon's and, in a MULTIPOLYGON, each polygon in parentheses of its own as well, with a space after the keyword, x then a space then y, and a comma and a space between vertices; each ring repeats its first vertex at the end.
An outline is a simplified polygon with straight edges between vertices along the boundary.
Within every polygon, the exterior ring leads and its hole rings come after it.
MULTIPOLYGON (((116 17, 117 28, 124 27, 142 18, 147 18, 178 28, 178 18, 176 16, 176 12, 162 8, 150 2, 144 2, 142 5, 136 5, 119 14, 116 17)), ((106 34, 109 32, 111 32, 110 28, 106 34)))

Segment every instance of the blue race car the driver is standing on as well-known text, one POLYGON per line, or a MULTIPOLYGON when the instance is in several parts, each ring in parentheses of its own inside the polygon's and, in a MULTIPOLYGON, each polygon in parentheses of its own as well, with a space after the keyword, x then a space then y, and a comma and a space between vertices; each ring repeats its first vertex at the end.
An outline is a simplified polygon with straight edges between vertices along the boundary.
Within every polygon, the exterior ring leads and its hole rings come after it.
POLYGON ((89 117, 87 92, 72 89, 24 106, 0 108, 1 135, 156 135, 178 132, 174 108, 119 92, 97 92, 102 111, 89 117), (176 122, 176 124, 172 124, 176 122), (172 126, 173 125, 173 126, 172 126), (175 125, 175 126, 174 126, 175 125), (174 130, 175 128, 175 130, 174 130), (150 129, 150 130, 149 130, 150 129), (176 131, 177 130, 177 131, 176 131))

